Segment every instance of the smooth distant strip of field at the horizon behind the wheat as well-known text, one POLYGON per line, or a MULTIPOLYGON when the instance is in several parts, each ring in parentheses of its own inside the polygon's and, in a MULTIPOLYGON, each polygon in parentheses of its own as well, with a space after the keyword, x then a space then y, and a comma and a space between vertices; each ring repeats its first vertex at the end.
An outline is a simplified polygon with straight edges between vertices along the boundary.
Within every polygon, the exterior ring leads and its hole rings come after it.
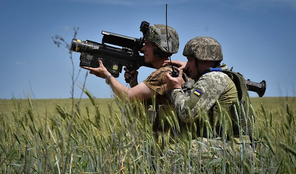
MULTIPOLYGON (((17 100, 17 99, 16 99, 17 100)), ((112 104, 114 109, 118 108, 117 105, 112 101, 114 99, 94 99, 96 104, 102 109, 102 112, 109 112, 108 105, 112 104)), ((17 102, 21 102, 22 109, 29 109, 29 103, 27 99, 17 100, 17 102)), ((74 102, 79 102, 80 99, 74 99, 74 102)), ((273 112, 279 112, 286 107, 286 104, 289 104, 291 108, 296 108, 296 97, 256 97, 251 98, 251 104, 253 105, 256 111, 261 111, 261 103, 268 110, 272 110, 273 112)), ((35 111, 40 115, 45 115, 46 110, 47 114, 56 114, 55 106, 56 104, 60 104, 65 106, 69 110, 72 108, 72 99, 32 99, 33 107, 35 111)), ((80 107, 81 111, 85 112, 85 106, 91 106, 92 103, 90 99, 81 99, 80 107)), ((0 99, 0 111, 5 114, 10 114, 11 110, 15 109, 13 104, 13 100, 3 100, 0 99)), ((90 110, 94 111, 93 107, 90 107, 90 110)), ((285 109, 284 109, 285 110, 285 109)))

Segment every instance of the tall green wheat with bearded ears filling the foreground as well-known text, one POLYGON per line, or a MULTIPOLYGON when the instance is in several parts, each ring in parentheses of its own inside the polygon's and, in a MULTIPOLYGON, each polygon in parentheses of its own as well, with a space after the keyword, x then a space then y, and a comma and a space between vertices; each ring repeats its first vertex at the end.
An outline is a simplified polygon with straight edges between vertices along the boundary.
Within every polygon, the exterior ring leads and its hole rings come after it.
POLYGON ((44 115, 36 112, 30 97, 26 104, 13 99, 11 114, 0 112, 0 174, 296 173, 296 112, 288 104, 285 112, 263 104, 256 112, 252 105, 236 108, 240 118, 248 109, 254 113, 246 120, 256 137, 256 147, 251 144, 255 152, 249 155, 248 144, 235 144, 231 136, 236 120, 222 110, 215 119, 220 139, 213 139, 217 130, 211 129, 206 113, 200 112, 197 122, 181 124, 171 108, 162 111, 155 133, 155 106, 151 114, 143 102, 114 97, 119 109, 110 103, 102 112, 84 92, 91 105, 76 104, 69 110, 56 104, 55 113, 44 115), (198 138, 195 132, 205 132, 208 138, 198 138))

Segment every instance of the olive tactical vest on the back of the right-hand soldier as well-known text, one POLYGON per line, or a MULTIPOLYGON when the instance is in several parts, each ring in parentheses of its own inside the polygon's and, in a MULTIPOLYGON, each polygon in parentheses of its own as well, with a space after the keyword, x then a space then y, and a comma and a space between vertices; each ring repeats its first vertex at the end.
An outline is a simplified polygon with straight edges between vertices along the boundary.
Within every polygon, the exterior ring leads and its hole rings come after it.
MULTIPOLYGON (((239 132, 242 131, 243 132, 243 137, 241 137, 242 139, 244 139, 245 142, 249 143, 252 141, 252 127, 251 127, 251 120, 252 120, 252 110, 249 107, 248 108, 248 104, 247 102, 249 101, 249 104, 251 104, 250 102, 250 98, 249 98, 249 94, 248 94, 248 88, 245 82, 245 78, 243 77, 242 74, 240 74, 239 72, 234 72, 232 70, 222 70, 220 68, 210 68, 208 69, 208 71, 221 71, 225 74, 228 75, 228 77, 230 78, 229 82, 231 82, 231 80, 234 82, 235 88, 237 90, 237 96, 238 96, 238 100, 236 101, 231 101, 231 102, 223 102, 226 101, 225 99, 221 99, 222 97, 219 98, 219 103, 221 104, 222 110, 226 111, 229 116, 231 117, 232 120, 232 134, 234 136, 234 141, 236 143, 241 143, 241 139, 239 139, 239 132), (248 101, 247 101, 248 99, 248 101), (235 107, 236 109, 235 109, 235 107), (248 111, 247 111, 248 109, 248 111), (248 112, 248 113, 247 113, 248 112), (238 126, 238 123, 240 127, 238 126), (241 130, 242 129, 242 130, 241 130)), ((231 88, 231 83, 229 83, 230 86, 228 86, 228 88, 231 88)), ((225 90, 226 92, 224 94, 222 94, 222 96, 224 98, 227 98, 229 95, 231 95, 231 93, 227 94, 228 90, 225 90)), ((218 108, 217 104, 214 104, 209 112, 209 116, 210 116, 210 122, 212 125, 212 128, 214 128, 214 126, 216 126, 216 135, 219 134, 219 130, 221 131, 220 128, 220 123, 218 120, 217 125, 215 124, 215 118, 218 117, 221 118, 221 114, 220 114, 220 109, 218 108)), ((254 118, 255 119, 255 118, 254 118)), ((221 132, 220 132, 220 136, 221 136, 221 132)), ((220 137, 217 136, 217 137, 220 137)), ((229 137, 229 136, 227 136, 229 137)))

